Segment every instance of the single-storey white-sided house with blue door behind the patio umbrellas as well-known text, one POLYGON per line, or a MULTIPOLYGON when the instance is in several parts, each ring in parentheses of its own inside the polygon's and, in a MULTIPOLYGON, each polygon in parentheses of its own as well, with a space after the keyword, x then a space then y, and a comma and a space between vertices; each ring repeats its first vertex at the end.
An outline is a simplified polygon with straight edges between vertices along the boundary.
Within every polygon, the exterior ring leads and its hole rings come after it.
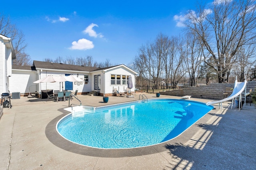
POLYGON ((97 92, 100 96, 112 96, 113 89, 125 92, 128 84, 128 77, 132 77, 135 89, 135 77, 137 73, 120 64, 106 68, 77 66, 71 64, 52 63, 43 61, 34 61, 33 66, 12 66, 9 90, 20 92, 20 95, 26 96, 29 93, 42 92, 42 90, 78 90, 78 94, 88 94, 97 92), (36 80, 46 76, 68 76, 76 75, 81 79, 80 82, 49 82, 33 83, 36 80))

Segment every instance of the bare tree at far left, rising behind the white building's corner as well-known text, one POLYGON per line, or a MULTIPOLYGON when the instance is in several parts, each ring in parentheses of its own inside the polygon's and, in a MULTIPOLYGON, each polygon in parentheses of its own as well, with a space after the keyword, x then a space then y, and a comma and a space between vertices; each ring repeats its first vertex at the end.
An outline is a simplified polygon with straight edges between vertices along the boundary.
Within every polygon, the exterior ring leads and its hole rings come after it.
POLYGON ((0 14, 0 34, 11 38, 14 47, 14 53, 16 59, 14 59, 14 65, 31 65, 32 61, 30 56, 25 52, 27 44, 25 43, 25 35, 22 31, 16 28, 16 25, 12 24, 10 17, 6 17, 0 14), (24 62, 24 63, 22 63, 24 62))

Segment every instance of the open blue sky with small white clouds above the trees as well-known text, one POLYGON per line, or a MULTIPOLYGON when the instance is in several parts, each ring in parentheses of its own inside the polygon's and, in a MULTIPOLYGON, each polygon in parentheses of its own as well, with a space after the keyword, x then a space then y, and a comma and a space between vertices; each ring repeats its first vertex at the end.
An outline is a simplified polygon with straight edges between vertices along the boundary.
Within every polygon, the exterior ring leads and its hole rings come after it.
POLYGON ((23 31, 32 60, 91 55, 97 62, 128 64, 158 33, 181 33, 178 21, 195 5, 196 0, 12 0, 1 2, 0 13, 23 31))

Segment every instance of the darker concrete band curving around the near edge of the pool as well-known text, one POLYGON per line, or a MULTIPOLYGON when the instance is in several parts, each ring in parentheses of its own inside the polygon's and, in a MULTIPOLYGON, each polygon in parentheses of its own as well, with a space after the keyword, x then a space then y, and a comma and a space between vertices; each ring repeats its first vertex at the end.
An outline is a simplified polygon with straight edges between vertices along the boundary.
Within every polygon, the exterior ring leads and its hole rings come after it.
MULTIPOLYGON (((138 102, 138 101, 137 101, 138 102)), ((104 106, 108 107, 108 106, 104 106)), ((188 141, 194 135, 195 131, 198 131, 204 123, 206 123, 210 117, 218 111, 217 109, 212 109, 206 115, 201 117, 198 121, 196 121, 193 125, 188 127, 185 131, 183 131, 180 135, 171 139, 169 141, 159 143, 156 145, 150 145, 146 147, 138 147, 138 148, 129 148, 129 149, 100 149, 94 147, 88 147, 84 145, 80 145, 77 143, 73 143, 72 141, 68 141, 64 137, 62 137, 58 131, 56 130, 56 124, 58 121, 70 114, 69 111, 65 110, 65 108, 59 109, 58 111, 63 114, 55 117, 46 125, 45 134, 48 140, 54 144, 56 147, 67 150, 69 152, 73 152, 76 154, 86 155, 86 156, 94 156, 94 157, 104 157, 104 158, 121 158, 121 157, 133 157, 133 156, 142 156, 148 154, 154 154, 158 152, 165 152, 170 149, 174 149, 176 147, 182 146, 183 144, 180 141, 188 141)))

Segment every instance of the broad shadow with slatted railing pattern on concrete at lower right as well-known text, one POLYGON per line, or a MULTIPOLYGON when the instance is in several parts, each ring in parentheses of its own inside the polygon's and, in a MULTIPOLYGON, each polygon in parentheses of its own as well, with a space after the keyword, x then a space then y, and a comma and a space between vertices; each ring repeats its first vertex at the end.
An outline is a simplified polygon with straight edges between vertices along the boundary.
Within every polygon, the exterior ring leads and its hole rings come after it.
POLYGON ((208 113, 210 122, 196 124, 200 130, 189 141, 165 145, 174 158, 166 169, 254 169, 256 116, 251 109, 208 113))

